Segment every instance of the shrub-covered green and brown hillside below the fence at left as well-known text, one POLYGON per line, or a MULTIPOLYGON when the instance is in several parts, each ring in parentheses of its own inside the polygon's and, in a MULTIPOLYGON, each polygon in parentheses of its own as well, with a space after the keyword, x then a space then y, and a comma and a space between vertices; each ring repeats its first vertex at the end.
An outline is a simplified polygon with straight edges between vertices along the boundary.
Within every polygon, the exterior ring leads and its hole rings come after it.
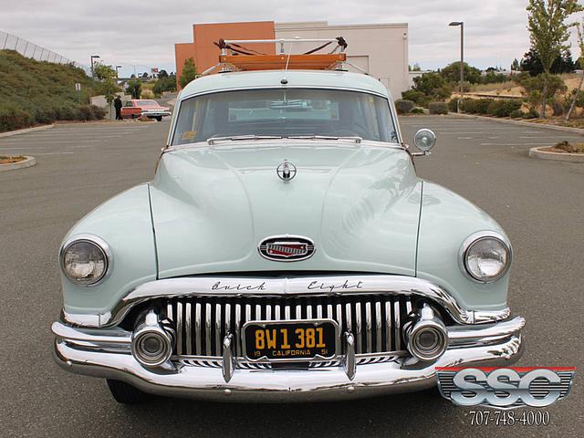
POLYGON ((93 87, 94 82, 81 68, 0 50, 0 131, 55 120, 99 118, 99 110, 87 105, 93 87), (81 106, 76 82, 81 84, 81 106))

